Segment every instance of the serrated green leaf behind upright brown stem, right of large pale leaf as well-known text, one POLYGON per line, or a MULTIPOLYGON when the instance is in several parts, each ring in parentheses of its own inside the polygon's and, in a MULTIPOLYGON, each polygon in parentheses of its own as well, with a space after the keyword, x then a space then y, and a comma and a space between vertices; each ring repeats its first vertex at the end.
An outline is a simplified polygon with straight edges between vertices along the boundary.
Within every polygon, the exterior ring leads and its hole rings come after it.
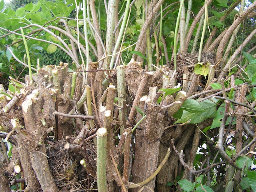
MULTIPOLYGON (((213 120, 213 123, 212 123, 212 126, 211 126, 210 129, 220 127, 220 124, 221 124, 222 119, 224 117, 224 113, 225 113, 225 103, 222 103, 220 105, 220 107, 218 108, 218 110, 216 111, 216 115, 215 115, 215 118, 213 120)), ((236 120, 236 118, 233 119, 232 125, 236 124, 235 120, 236 120)), ((226 125, 229 125, 231 121, 232 121, 232 118, 229 116, 227 118, 226 125)))

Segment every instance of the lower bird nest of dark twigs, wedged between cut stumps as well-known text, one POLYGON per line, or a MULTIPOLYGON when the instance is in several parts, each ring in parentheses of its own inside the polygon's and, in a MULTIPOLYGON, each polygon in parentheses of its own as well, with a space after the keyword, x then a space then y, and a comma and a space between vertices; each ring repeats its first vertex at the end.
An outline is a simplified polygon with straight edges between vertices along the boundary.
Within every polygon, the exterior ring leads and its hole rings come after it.
MULTIPOLYGON (((72 145, 75 137, 69 137, 69 144, 72 145)), ((80 164, 81 160, 87 160, 89 166, 96 173, 96 149, 91 143, 85 143, 85 150, 79 150, 75 153, 65 149, 67 140, 59 140, 54 145, 47 148, 48 163, 52 172, 54 181, 59 191, 90 191, 96 188, 96 178, 87 173, 84 166, 80 164), (85 154, 86 151, 86 154, 85 154)))

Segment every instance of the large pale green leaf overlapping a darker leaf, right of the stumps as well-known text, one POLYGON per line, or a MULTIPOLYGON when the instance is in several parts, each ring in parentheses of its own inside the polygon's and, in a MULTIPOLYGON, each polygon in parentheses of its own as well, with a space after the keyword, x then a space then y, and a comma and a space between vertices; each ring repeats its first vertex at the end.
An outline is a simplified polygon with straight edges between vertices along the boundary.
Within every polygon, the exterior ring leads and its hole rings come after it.
POLYGON ((219 100, 214 98, 212 98, 211 100, 204 100, 202 102, 199 102, 200 106, 204 109, 203 112, 192 113, 184 111, 181 119, 175 121, 174 124, 185 123, 189 120, 191 120, 189 124, 197 124, 206 119, 214 117, 216 113, 216 105, 219 100))

